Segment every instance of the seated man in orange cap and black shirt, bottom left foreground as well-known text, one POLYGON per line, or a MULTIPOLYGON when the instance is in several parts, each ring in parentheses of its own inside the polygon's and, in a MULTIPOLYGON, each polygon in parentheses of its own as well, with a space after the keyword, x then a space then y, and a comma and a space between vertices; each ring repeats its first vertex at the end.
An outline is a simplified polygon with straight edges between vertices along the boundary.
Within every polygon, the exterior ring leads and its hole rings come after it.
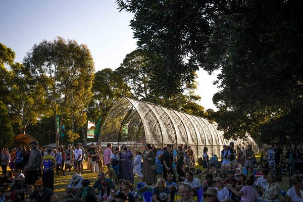
POLYGON ((29 195, 26 202, 31 202, 35 199, 36 202, 56 202, 58 196, 52 189, 43 187, 42 180, 36 180, 34 183, 35 190, 29 195))

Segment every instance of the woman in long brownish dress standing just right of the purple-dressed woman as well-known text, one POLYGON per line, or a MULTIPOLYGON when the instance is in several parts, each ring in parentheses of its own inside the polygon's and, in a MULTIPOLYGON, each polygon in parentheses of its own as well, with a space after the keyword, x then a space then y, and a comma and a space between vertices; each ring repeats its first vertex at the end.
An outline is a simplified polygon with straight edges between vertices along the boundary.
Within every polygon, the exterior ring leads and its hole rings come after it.
POLYGON ((156 172, 151 169, 156 163, 155 154, 151 149, 150 144, 144 146, 144 152, 142 154, 143 159, 143 182, 147 185, 155 186, 156 184, 156 172))

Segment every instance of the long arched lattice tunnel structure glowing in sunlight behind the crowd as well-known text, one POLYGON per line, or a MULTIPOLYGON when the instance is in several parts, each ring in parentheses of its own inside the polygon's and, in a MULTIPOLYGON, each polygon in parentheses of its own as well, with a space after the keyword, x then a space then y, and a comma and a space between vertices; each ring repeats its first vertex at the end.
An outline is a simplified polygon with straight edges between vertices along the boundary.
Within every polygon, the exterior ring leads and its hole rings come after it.
POLYGON ((145 142, 155 143, 156 147, 186 144, 191 145, 196 157, 203 155, 204 147, 208 147, 209 153, 219 155, 223 145, 230 141, 235 146, 251 144, 258 151, 258 145, 248 134, 244 139, 230 140, 217 128, 216 123, 205 118, 119 96, 103 117, 99 142, 127 143, 131 148, 145 142))

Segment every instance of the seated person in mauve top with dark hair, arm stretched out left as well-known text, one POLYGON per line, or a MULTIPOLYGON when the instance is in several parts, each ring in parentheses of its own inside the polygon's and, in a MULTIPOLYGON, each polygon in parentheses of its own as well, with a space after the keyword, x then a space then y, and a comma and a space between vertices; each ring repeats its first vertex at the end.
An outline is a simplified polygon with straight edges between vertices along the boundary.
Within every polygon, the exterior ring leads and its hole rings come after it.
POLYGON ((226 187, 232 191, 235 195, 237 195, 238 197, 241 196, 241 200, 240 201, 249 201, 249 202, 257 202, 258 201, 258 193, 257 191, 254 189, 254 187, 252 187, 252 185, 254 185, 254 175, 250 175, 247 180, 246 180, 246 186, 243 186, 241 188, 240 191, 237 191, 235 188, 233 188, 230 185, 226 185, 226 187))

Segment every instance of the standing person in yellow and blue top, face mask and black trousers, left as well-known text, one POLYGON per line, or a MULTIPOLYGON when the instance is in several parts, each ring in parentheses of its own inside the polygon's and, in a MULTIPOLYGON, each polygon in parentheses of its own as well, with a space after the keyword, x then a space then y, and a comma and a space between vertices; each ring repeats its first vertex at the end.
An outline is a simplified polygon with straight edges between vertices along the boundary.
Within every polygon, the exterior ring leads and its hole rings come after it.
POLYGON ((44 187, 50 188, 54 191, 54 181, 55 181, 55 175, 54 175, 54 168, 56 168, 56 159, 51 155, 51 149, 47 148, 46 154, 42 158, 42 162, 40 165, 42 173, 42 181, 44 184, 44 187))

